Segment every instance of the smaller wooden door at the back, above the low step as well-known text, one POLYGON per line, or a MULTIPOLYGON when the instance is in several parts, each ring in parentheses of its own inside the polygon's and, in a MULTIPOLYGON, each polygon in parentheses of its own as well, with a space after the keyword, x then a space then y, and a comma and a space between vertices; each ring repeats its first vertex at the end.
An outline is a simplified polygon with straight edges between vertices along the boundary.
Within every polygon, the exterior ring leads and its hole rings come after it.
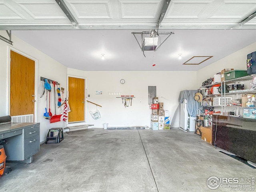
POLYGON ((68 77, 68 122, 84 121, 84 79, 68 77))

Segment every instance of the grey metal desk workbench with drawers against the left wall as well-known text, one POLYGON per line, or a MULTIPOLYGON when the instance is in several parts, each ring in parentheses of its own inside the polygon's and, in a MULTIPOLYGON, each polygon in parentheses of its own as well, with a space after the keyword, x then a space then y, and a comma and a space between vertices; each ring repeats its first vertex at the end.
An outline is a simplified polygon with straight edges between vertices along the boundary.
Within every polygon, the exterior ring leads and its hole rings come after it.
POLYGON ((0 140, 6 140, 6 162, 31 163, 40 150, 40 123, 0 124, 0 140))

